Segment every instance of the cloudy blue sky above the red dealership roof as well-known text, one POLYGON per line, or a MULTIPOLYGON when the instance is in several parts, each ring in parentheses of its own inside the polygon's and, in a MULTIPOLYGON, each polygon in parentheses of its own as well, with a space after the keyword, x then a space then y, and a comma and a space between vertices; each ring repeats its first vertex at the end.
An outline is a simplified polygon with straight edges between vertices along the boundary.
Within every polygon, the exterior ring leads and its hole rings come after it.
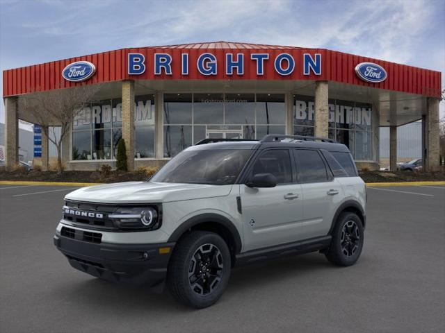
POLYGON ((224 40, 325 48, 434 69, 442 71, 444 89, 444 17, 445 0, 0 0, 0 69, 224 40))

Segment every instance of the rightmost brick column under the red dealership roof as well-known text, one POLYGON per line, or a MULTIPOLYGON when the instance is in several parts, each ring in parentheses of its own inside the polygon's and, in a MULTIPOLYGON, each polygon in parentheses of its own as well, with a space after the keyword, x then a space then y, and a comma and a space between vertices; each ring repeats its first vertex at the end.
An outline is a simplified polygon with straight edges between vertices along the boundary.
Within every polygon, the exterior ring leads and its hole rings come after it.
POLYGON ((439 99, 428 98, 425 119, 425 160, 426 171, 439 170, 439 99))

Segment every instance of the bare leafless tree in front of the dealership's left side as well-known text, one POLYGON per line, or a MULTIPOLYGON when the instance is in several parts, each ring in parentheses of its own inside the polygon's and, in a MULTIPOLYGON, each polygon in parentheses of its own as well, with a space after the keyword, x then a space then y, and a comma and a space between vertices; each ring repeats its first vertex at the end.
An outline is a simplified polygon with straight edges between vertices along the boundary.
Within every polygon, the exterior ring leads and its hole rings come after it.
POLYGON ((58 173, 63 171, 62 142, 69 135, 74 119, 94 99, 98 89, 97 85, 78 86, 19 97, 19 110, 30 114, 35 123, 42 126, 44 135, 56 146, 58 173), (60 137, 56 135, 54 126, 60 127, 60 137), (49 128, 52 129, 52 135, 49 128))

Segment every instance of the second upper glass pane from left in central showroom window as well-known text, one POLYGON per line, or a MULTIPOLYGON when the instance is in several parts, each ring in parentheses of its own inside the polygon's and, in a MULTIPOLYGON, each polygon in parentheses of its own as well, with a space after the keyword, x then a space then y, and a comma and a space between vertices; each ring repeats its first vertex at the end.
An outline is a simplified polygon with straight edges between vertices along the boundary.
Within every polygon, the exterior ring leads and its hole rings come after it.
POLYGON ((193 94, 194 123, 224 123, 224 94, 193 94))

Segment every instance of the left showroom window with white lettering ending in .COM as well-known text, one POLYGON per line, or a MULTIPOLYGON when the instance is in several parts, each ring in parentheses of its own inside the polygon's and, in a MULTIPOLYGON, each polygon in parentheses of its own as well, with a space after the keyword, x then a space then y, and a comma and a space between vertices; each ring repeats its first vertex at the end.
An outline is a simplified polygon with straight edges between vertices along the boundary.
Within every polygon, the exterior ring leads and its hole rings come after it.
MULTIPOLYGON (((154 157, 154 95, 135 99, 135 157, 154 157)), ((74 118, 72 160, 113 160, 122 137, 122 100, 86 105, 74 118)))

